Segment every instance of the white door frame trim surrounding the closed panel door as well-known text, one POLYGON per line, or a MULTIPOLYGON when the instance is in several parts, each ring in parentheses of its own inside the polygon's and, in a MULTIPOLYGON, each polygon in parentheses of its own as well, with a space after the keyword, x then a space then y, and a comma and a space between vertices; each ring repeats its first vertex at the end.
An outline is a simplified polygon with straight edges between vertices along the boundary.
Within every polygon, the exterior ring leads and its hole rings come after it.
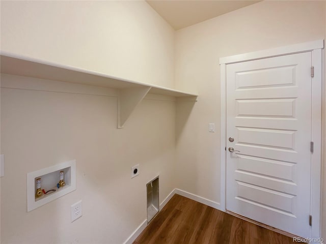
MULTIPOLYGON (((221 204, 220 210, 226 211, 226 65, 249 60, 282 56, 300 52, 312 52, 312 138, 314 152, 311 155, 311 238, 320 237, 321 217, 321 103, 322 103, 322 56, 323 40, 244 53, 220 58, 221 66, 221 204)), ((309 221, 309 220, 307 220, 309 221)))

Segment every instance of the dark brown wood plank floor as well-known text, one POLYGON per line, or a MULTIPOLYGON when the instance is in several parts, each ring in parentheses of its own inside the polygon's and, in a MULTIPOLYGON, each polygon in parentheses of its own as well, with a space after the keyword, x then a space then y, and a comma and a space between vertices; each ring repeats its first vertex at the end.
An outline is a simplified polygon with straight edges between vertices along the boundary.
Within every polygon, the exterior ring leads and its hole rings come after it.
POLYGON ((134 244, 286 244, 292 238, 174 195, 134 244))

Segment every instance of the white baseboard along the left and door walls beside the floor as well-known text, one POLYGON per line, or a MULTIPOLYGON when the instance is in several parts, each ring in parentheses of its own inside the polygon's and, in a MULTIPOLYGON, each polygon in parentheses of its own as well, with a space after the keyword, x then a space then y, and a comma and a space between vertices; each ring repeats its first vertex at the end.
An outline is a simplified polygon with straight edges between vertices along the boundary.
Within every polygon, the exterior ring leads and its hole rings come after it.
MULTIPOLYGON (((159 205, 159 210, 161 210, 170 200, 171 198, 174 196, 174 194, 178 194, 180 196, 192 199, 196 202, 200 202, 203 203, 207 206, 216 208, 216 209, 220 209, 220 203, 218 202, 214 202, 211 200, 208 200, 206 198, 197 196, 195 194, 186 192, 186 191, 182 191, 180 189, 174 189, 172 190, 172 192, 170 192, 170 194, 161 202, 161 204, 159 205)), ((127 238, 127 240, 125 242, 123 242, 123 244, 131 244, 141 233, 142 231, 146 228, 147 226, 147 219, 143 221, 143 223, 137 227, 137 229, 135 229, 135 231, 127 238)))

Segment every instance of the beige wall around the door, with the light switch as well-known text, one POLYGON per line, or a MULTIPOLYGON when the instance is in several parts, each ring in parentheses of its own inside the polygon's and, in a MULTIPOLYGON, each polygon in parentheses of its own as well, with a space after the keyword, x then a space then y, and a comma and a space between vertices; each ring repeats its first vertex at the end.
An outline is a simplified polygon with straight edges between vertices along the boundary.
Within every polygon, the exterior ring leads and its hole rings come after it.
POLYGON ((220 202, 219 58, 324 39, 324 4, 264 1, 176 32, 176 88, 200 94, 188 118, 177 107, 177 121, 186 121, 177 124, 178 188, 220 202))

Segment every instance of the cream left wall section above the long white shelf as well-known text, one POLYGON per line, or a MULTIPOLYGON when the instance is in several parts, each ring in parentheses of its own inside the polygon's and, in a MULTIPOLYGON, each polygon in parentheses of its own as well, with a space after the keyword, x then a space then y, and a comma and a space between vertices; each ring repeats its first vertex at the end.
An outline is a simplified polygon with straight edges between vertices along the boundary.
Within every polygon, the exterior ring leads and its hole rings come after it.
POLYGON ((1 50, 174 87, 174 30, 145 1, 1 1, 1 50))

